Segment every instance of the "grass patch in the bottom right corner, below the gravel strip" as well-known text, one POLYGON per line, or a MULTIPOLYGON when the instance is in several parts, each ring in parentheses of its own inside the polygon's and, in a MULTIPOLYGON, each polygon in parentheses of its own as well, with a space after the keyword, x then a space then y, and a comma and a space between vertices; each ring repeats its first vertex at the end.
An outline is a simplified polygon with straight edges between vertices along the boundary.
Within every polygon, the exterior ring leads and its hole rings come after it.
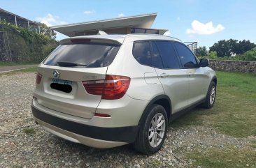
POLYGON ((194 150, 189 153, 191 159, 197 160, 193 167, 256 167, 256 151, 253 148, 208 148, 206 151, 194 150))

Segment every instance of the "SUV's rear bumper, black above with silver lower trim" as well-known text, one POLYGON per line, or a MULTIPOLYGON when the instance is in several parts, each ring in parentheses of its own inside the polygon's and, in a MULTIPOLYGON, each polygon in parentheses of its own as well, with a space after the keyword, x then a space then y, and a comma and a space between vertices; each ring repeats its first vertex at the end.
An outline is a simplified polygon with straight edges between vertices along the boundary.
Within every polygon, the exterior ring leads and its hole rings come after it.
POLYGON ((111 148, 134 142, 138 132, 138 126, 125 126, 118 128, 103 128, 85 125, 42 112, 32 105, 34 119, 40 125, 53 134, 97 148, 111 148))

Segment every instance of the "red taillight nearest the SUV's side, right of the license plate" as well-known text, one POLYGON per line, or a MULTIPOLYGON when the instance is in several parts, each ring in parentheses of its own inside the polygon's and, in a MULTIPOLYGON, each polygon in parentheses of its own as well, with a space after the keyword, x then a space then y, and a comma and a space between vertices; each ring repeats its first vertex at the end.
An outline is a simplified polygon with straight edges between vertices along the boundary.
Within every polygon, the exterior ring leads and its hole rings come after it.
POLYGON ((102 96, 102 99, 113 100, 125 95, 131 78, 118 75, 106 75, 105 79, 83 81, 87 93, 102 96))

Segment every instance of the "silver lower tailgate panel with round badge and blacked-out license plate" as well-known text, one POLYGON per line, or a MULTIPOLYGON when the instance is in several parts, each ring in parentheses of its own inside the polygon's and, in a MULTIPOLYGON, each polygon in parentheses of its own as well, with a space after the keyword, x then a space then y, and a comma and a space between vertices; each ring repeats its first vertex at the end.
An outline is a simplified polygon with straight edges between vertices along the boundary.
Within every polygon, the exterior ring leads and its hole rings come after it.
POLYGON ((83 68, 60 68, 43 65, 38 68, 38 73, 42 75, 42 79, 41 83, 36 86, 34 96, 38 103, 44 107, 54 109, 57 112, 91 119, 99 105, 101 96, 87 93, 82 81, 105 79, 106 70, 106 67, 87 68, 86 72, 84 72, 83 68), (52 83, 57 83, 53 77, 54 70, 59 72, 59 83, 64 81, 67 85, 71 85, 72 90, 70 93, 51 87, 52 83))

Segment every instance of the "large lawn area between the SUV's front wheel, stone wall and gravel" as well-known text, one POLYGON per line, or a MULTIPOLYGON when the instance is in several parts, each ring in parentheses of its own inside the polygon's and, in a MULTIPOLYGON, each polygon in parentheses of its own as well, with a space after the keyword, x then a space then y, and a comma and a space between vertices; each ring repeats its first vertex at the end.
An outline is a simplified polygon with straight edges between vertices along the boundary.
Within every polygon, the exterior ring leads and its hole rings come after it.
POLYGON ((256 135, 256 75, 217 72, 218 88, 212 109, 193 109, 173 127, 203 125, 234 137, 256 135))

